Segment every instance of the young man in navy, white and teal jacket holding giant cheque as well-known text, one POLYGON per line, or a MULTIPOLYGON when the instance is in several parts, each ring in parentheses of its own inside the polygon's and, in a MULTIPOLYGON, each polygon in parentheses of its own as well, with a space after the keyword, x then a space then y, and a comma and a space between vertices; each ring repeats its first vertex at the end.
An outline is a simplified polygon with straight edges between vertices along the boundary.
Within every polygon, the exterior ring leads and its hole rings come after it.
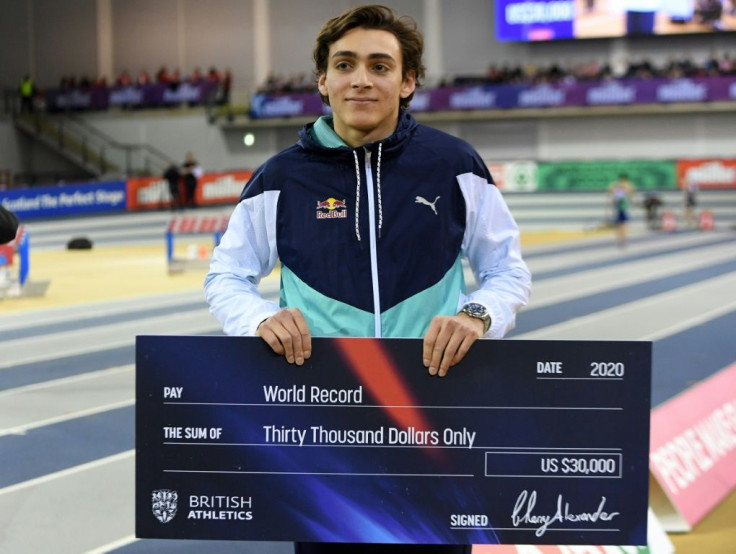
MULTIPOLYGON (((332 116, 254 173, 212 257, 205 293, 227 334, 260 336, 296 365, 312 336, 423 337, 421 363, 444 377, 478 338, 513 328, 530 289, 519 230, 479 155, 406 110, 422 50, 416 24, 383 6, 324 25, 314 61, 332 116), (277 259, 278 305, 256 288, 277 259)), ((465 551, 417 548, 297 552, 465 551)))

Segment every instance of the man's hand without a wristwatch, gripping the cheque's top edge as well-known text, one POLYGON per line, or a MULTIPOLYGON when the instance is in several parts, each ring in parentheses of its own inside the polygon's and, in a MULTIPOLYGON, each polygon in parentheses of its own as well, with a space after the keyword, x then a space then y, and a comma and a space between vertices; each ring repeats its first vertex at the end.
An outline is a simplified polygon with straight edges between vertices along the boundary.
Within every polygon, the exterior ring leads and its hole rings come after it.
POLYGON ((262 321, 256 336, 290 364, 302 365, 312 355, 312 335, 307 320, 297 308, 280 310, 262 321))

